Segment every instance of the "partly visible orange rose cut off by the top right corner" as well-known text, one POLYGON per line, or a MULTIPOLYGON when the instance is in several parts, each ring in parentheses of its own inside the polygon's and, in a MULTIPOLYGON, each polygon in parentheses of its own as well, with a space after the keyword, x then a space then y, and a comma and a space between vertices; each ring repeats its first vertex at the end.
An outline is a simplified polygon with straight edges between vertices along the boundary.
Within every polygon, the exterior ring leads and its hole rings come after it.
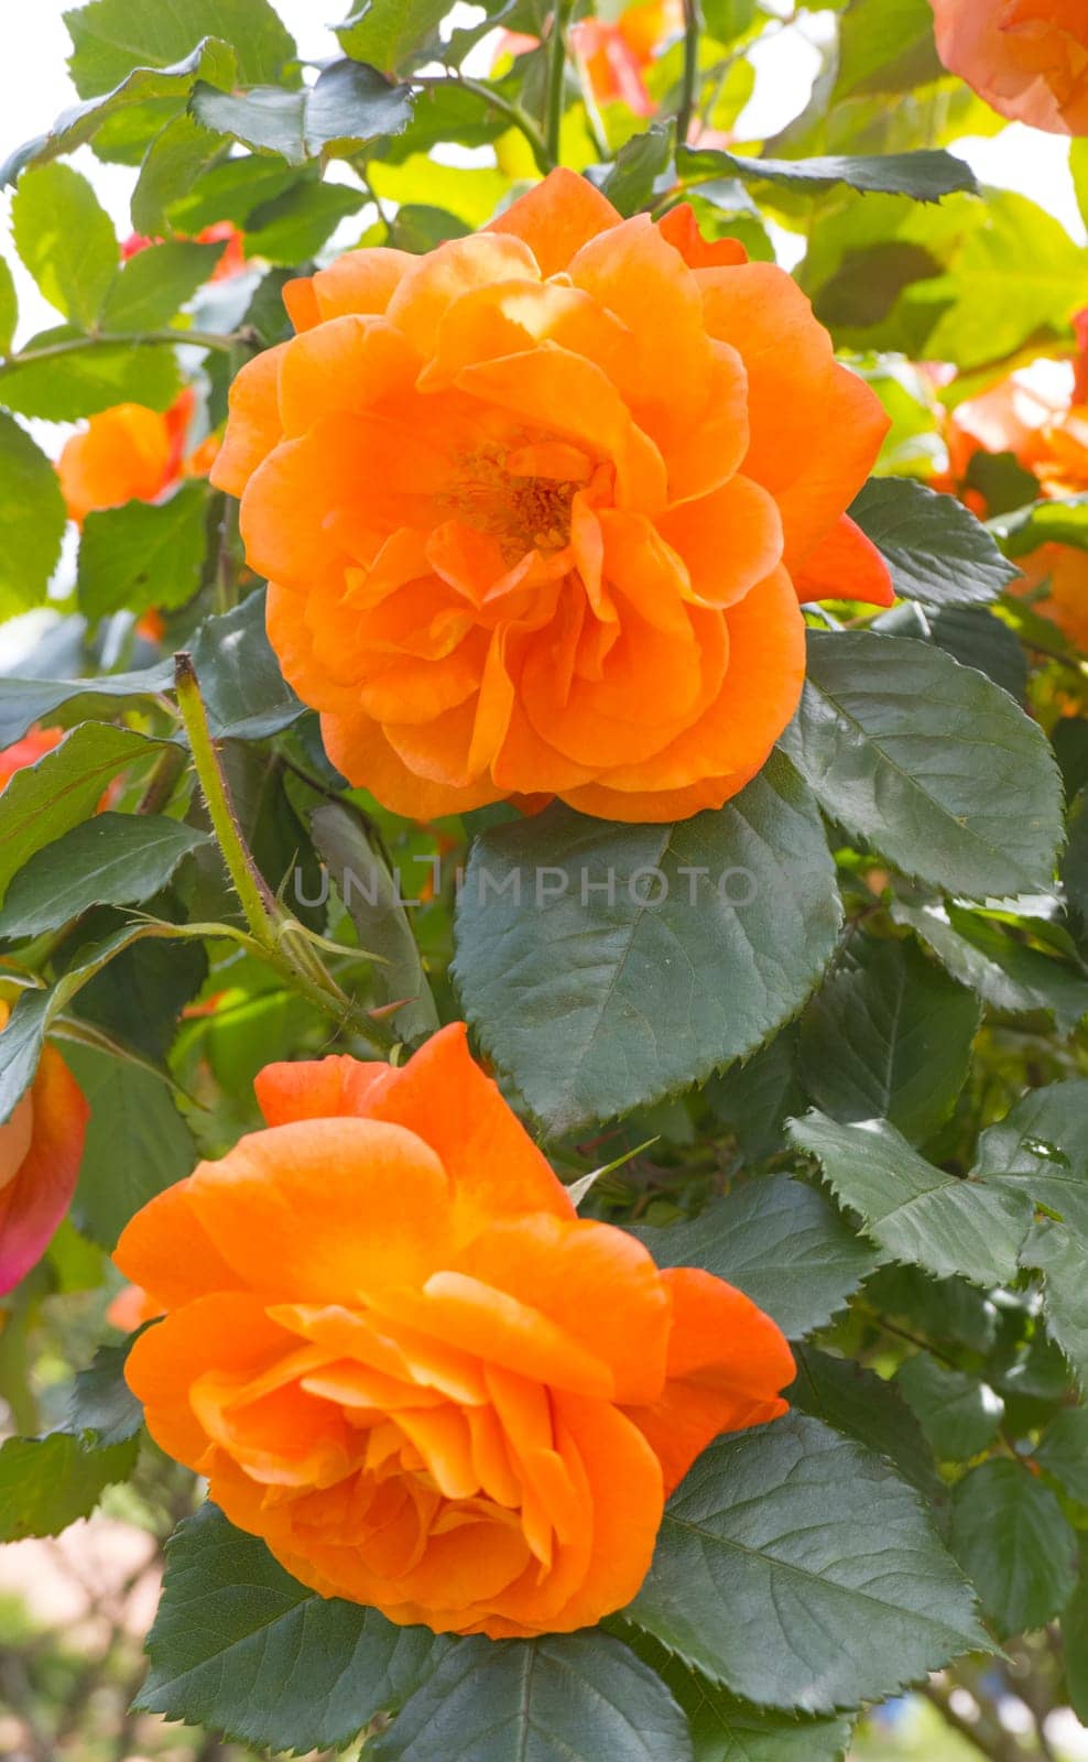
POLYGON ((930 0, 937 51, 1002 116, 1088 134, 1084 0, 930 0))

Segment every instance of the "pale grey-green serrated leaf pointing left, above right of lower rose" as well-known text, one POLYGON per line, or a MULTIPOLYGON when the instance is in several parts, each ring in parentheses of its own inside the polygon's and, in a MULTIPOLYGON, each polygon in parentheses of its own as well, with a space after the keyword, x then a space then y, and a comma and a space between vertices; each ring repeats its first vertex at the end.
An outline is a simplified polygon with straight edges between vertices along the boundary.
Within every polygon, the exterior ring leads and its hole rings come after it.
POLYGON ((1032 1216, 1025 1193, 935 1168, 887 1121, 840 1126, 812 1112, 790 1122, 790 1138, 820 1161, 834 1196, 893 1260, 975 1284, 1016 1276, 1032 1216))

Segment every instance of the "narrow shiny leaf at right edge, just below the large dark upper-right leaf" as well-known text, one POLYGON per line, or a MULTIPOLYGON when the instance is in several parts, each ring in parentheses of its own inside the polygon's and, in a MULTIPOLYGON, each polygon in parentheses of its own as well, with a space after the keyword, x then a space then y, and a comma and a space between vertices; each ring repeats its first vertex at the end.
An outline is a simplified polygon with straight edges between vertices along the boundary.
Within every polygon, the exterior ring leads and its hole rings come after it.
POLYGON ((970 985, 993 1010, 1049 1010, 1063 1034, 1088 1013, 1088 978, 1079 967, 1009 936, 991 918, 937 900, 891 904, 896 923, 910 925, 954 980, 970 985))

